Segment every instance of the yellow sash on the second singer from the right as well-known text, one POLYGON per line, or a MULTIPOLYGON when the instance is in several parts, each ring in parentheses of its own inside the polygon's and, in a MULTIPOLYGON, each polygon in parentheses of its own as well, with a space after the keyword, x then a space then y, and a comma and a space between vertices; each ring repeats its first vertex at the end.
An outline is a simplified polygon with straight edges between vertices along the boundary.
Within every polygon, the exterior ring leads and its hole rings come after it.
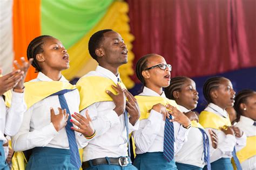
POLYGON ((223 126, 231 126, 230 118, 222 117, 210 111, 202 111, 199 115, 199 123, 204 128, 212 128, 219 130, 223 126))

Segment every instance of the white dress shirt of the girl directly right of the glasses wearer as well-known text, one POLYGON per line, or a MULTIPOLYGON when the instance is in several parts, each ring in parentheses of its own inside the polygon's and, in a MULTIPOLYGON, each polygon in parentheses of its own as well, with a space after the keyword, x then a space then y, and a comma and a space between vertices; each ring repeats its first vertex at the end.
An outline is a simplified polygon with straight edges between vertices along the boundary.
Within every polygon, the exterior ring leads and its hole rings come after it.
MULTIPOLYGON (((182 105, 178 105, 178 107, 181 112, 190 111, 182 105)), ((175 155, 175 161, 181 164, 188 164, 201 168, 206 165, 204 162, 203 134, 198 128, 191 127, 187 141, 175 155)))

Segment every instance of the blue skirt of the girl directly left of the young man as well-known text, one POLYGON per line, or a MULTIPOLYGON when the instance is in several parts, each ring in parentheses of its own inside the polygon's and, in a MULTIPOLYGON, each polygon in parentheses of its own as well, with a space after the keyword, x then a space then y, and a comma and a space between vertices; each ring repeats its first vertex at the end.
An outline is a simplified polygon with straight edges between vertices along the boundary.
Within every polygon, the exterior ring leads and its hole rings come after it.
POLYGON ((35 147, 26 165, 26 169, 55 170, 68 169, 78 170, 70 163, 69 150, 54 147, 35 147))

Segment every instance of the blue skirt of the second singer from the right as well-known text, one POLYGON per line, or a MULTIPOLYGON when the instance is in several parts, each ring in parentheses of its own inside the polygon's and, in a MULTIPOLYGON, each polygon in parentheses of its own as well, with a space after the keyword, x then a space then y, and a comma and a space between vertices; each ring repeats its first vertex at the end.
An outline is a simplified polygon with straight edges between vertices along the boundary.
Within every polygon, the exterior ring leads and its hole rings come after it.
MULTIPOLYGON (((211 163, 212 170, 233 170, 230 158, 220 158, 211 163)), ((204 170, 207 170, 207 166, 204 167, 204 170)))

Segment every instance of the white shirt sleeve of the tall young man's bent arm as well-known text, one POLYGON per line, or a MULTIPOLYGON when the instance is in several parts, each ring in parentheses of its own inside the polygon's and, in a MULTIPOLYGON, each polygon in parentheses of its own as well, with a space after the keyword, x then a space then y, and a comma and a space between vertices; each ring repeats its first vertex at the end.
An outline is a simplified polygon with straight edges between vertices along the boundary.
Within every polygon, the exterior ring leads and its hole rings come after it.
POLYGON ((111 126, 117 124, 120 121, 117 113, 114 110, 106 110, 106 114, 102 117, 99 117, 97 111, 98 104, 99 102, 91 104, 86 109, 80 111, 80 114, 85 116, 85 110, 88 110, 88 113, 92 119, 93 128, 96 130, 95 137, 104 134, 111 128, 111 126))

